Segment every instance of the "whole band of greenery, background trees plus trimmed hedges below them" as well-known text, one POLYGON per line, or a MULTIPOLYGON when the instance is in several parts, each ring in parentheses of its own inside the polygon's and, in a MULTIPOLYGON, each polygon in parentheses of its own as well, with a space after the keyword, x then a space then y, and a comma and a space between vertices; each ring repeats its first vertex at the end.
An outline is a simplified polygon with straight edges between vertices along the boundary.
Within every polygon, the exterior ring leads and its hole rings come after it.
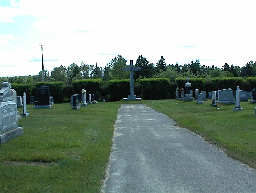
MULTIPOLYGON (((130 94, 130 73, 123 71, 129 67, 127 61, 120 55, 113 58, 102 69, 96 65, 73 63, 69 67, 55 67, 51 74, 44 71, 45 82, 42 82, 42 72, 34 76, 2 77, 0 83, 9 81, 19 96, 23 91, 30 96, 37 95, 38 86, 50 86, 51 95, 56 103, 68 102, 71 95, 80 93, 82 88, 87 94, 95 94, 96 99, 104 97, 117 101, 130 94)), ((218 89, 240 89, 251 91, 256 87, 256 62, 250 61, 244 67, 229 66, 225 63, 222 69, 215 66, 205 66, 199 60, 189 64, 167 64, 163 56, 155 64, 140 55, 134 62, 140 71, 134 72, 134 93, 143 99, 172 99, 175 90, 184 88, 186 77, 190 78, 193 89, 212 91, 218 89), (167 81, 167 82, 166 82, 167 81), (195 87, 195 88, 194 88, 195 87)), ((0 85, 1 87, 1 85, 0 85)))

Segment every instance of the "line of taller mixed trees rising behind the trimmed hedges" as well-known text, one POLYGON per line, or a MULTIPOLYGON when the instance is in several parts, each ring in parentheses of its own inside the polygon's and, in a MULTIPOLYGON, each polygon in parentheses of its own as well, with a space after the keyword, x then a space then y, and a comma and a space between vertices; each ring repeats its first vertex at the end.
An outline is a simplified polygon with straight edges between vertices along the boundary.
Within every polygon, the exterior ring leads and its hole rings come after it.
MULTIPOLYGON (((65 84, 71 85, 74 80, 83 79, 102 79, 103 84, 106 81, 114 79, 129 79, 129 72, 123 71, 127 61, 118 55, 106 64, 102 69, 96 63, 96 65, 89 65, 81 62, 80 65, 75 63, 68 67, 59 66, 55 67, 51 73, 48 70, 44 70, 45 81, 56 82, 61 81, 65 84)), ((228 65, 225 63, 222 67, 217 68, 215 66, 201 65, 199 60, 191 61, 188 64, 179 65, 167 64, 163 56, 158 60, 156 64, 151 63, 147 58, 140 55, 134 62, 135 67, 141 67, 141 71, 134 72, 134 79, 139 78, 169 78, 171 82, 178 77, 200 77, 200 78, 223 78, 223 77, 255 77, 256 76, 256 61, 250 61, 245 64, 244 67, 228 65)), ((2 77, 0 82, 9 81, 10 83, 17 84, 35 84, 42 81, 42 71, 38 75, 34 76, 20 76, 20 77, 2 77)))

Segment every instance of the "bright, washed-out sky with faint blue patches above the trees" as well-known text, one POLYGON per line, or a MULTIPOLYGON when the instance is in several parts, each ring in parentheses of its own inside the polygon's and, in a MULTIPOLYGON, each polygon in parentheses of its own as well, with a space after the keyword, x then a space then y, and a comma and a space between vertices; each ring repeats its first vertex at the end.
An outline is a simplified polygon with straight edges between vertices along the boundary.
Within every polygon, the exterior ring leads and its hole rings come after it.
POLYGON ((121 55, 222 68, 256 61, 255 1, 0 0, 0 77, 121 55))

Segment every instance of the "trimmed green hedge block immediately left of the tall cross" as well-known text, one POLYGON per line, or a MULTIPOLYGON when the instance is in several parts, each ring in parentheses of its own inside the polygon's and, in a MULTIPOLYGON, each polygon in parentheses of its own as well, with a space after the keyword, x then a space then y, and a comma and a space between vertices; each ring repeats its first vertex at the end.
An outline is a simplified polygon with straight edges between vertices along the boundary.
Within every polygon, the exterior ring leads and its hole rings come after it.
POLYGON ((130 95, 130 79, 110 80, 107 82, 109 87, 109 100, 120 101, 130 95))

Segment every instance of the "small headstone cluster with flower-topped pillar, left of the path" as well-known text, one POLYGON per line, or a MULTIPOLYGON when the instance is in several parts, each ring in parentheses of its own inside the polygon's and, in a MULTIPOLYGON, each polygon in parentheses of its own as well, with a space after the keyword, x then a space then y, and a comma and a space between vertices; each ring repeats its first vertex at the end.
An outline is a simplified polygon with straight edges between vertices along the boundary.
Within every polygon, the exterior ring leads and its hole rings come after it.
POLYGON ((87 104, 96 103, 94 94, 88 94, 88 102, 86 100, 86 93, 82 94, 74 94, 70 97, 70 105, 73 109, 77 110, 81 108, 80 102, 82 106, 86 106, 87 104))

